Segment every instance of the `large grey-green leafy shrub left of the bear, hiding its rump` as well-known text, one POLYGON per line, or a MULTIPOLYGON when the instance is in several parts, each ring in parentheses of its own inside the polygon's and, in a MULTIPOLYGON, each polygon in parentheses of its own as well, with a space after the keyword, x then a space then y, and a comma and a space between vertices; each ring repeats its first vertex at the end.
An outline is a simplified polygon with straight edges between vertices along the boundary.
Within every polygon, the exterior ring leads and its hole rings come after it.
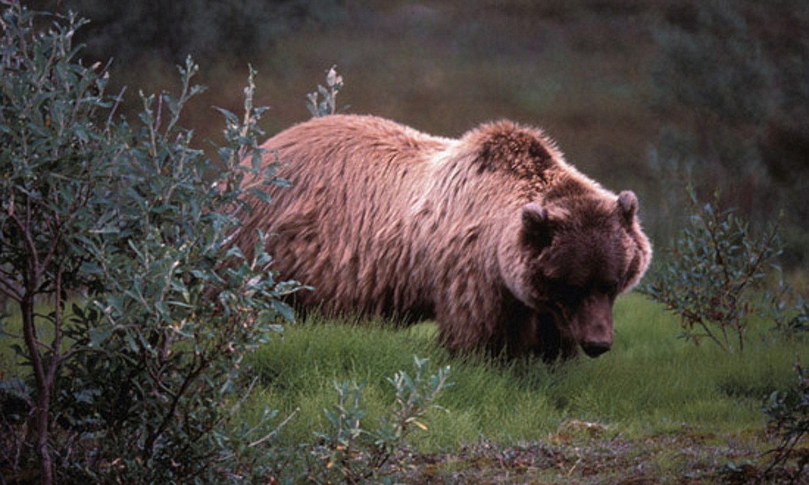
MULTIPOLYGON (((2 382, 4 475, 41 483, 177 483, 244 479, 240 460, 269 424, 231 432, 244 399, 244 356, 291 318, 272 259, 228 244, 242 188, 260 171, 252 106, 222 110, 220 160, 192 146, 181 112, 202 91, 180 67, 176 97, 141 95, 140 125, 116 120, 108 75, 76 60, 83 20, 3 2, 0 115, 0 295, 21 367, 2 382), (252 157, 252 165, 240 161, 252 157), (11 399, 10 398, 10 399, 11 399), (6 399, 4 399, 6 401, 6 399), (11 401, 6 401, 11 402, 11 401), (4 408, 6 403, 3 403, 4 408)), ((262 183, 281 183, 271 171, 262 183)), ((262 237, 263 240, 263 237, 262 237)), ((270 417, 272 413, 268 414, 270 417)))

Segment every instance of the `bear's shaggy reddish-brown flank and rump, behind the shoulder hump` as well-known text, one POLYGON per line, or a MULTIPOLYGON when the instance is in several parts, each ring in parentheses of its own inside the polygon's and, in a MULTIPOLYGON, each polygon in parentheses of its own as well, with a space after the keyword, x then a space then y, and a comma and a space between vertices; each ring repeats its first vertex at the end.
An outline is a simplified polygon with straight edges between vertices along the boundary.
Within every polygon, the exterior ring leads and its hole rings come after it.
MULTIPOLYGON (((453 141, 375 116, 324 116, 278 133, 262 148, 290 188, 271 190, 253 226, 271 234, 282 277, 315 287, 306 306, 430 316, 410 206, 453 141)), ((252 228, 245 228, 248 236, 252 228)), ((249 237, 249 236, 248 236, 249 237)), ((241 244, 244 247, 244 244, 241 244)))

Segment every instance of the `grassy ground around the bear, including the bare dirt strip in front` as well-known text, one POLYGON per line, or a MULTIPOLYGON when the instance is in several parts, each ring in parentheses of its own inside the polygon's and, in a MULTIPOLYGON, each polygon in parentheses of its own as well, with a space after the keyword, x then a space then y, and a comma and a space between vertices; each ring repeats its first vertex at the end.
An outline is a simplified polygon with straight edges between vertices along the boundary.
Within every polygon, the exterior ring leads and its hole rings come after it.
MULTIPOLYGON (((260 390, 253 407, 282 415, 287 445, 327 427, 332 382, 365 382, 365 425, 393 399, 385 380, 408 370, 413 355, 434 369, 451 365, 455 386, 413 435, 411 479, 420 482, 713 483, 762 470, 773 448, 763 400, 790 386, 796 356, 809 345, 756 329, 743 355, 676 339, 678 322, 632 294, 616 306, 616 345, 598 359, 555 369, 538 362, 495 365, 447 356, 434 325, 388 329, 322 318, 289 326, 261 348, 254 365, 260 390), (638 481, 639 480, 639 481, 638 481), (644 482, 643 480, 648 480, 644 482)), ((748 476, 749 474, 749 476, 748 476)))

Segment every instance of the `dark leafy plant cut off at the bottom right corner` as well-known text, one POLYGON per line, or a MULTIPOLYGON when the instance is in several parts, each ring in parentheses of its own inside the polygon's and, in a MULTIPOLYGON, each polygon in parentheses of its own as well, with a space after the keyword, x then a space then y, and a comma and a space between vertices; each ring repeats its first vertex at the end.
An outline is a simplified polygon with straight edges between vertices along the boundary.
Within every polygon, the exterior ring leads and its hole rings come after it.
POLYGON ((769 428, 777 436, 780 443, 769 451, 773 460, 765 471, 765 477, 797 454, 797 468, 792 475, 791 483, 797 483, 806 466, 809 465, 809 453, 794 453, 798 444, 809 436, 809 368, 794 365, 798 382, 789 390, 778 390, 770 394, 764 405, 764 413, 769 420, 769 428))

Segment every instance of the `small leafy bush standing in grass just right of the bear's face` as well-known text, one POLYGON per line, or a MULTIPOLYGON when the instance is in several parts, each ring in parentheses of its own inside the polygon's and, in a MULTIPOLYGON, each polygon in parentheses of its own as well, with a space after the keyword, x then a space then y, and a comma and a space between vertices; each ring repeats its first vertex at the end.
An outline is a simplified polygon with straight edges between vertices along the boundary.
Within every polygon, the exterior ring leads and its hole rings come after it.
POLYGON ((743 352, 750 318, 769 311, 760 294, 781 251, 778 227, 756 238, 732 209, 718 209, 718 194, 701 208, 693 188, 688 195, 690 223, 642 292, 680 315, 684 339, 743 352))

